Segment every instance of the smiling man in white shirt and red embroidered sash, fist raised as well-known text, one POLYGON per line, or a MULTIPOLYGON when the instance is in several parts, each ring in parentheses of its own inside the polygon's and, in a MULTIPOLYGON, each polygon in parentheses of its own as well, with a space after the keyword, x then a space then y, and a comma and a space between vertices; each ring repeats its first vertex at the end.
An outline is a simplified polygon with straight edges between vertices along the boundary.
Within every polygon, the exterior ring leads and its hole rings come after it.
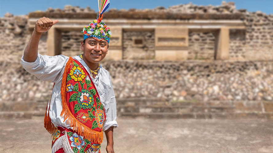
POLYGON ((38 43, 58 20, 40 18, 26 46, 21 64, 40 80, 54 82, 45 113, 45 128, 53 136, 52 152, 99 153, 107 139, 107 153, 114 153, 116 99, 109 72, 99 62, 108 53, 110 29, 93 20, 83 28, 83 54, 75 57, 38 54, 38 43))

